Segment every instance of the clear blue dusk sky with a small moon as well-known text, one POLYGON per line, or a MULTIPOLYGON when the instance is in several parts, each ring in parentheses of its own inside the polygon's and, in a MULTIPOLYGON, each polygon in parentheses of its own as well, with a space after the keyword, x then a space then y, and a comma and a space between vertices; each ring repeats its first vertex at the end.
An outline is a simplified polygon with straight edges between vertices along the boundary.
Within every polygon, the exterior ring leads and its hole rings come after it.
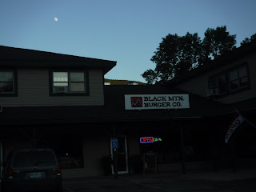
POLYGON ((1 0, 0 45, 117 61, 105 78, 145 82, 167 34, 226 25, 240 46, 255 19, 255 0, 1 0))

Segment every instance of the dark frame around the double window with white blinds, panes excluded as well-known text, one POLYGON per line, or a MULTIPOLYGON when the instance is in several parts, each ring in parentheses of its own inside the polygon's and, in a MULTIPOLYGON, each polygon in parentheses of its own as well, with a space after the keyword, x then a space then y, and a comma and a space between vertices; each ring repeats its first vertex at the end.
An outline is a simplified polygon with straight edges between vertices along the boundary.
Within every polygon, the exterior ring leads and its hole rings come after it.
POLYGON ((89 72, 88 70, 49 70, 49 93, 50 96, 89 96, 90 95, 90 89, 89 89, 89 72), (68 87, 69 92, 68 93, 54 93, 54 72, 66 72, 68 73, 68 87), (70 92, 70 73, 84 73, 84 83, 85 83, 85 92, 70 92))

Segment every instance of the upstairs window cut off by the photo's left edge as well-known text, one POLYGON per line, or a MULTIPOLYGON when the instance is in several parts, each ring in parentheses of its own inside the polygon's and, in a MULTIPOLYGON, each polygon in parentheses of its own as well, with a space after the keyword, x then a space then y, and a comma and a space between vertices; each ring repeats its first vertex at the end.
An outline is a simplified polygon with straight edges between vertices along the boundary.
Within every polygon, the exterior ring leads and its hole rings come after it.
POLYGON ((15 76, 13 70, 0 70, 0 96, 15 96, 17 94, 15 76))

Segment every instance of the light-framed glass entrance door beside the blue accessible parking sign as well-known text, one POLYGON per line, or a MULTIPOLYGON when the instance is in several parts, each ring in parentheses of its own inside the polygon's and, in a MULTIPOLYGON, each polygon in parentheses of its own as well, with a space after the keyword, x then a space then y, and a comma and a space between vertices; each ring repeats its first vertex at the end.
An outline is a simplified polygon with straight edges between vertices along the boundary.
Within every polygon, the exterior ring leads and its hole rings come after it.
MULTIPOLYGON (((112 142, 110 142, 111 156, 113 158, 112 142)), ((128 174, 127 141, 126 137, 118 137, 118 174, 128 174)), ((112 174, 114 166, 112 165, 112 174)))

